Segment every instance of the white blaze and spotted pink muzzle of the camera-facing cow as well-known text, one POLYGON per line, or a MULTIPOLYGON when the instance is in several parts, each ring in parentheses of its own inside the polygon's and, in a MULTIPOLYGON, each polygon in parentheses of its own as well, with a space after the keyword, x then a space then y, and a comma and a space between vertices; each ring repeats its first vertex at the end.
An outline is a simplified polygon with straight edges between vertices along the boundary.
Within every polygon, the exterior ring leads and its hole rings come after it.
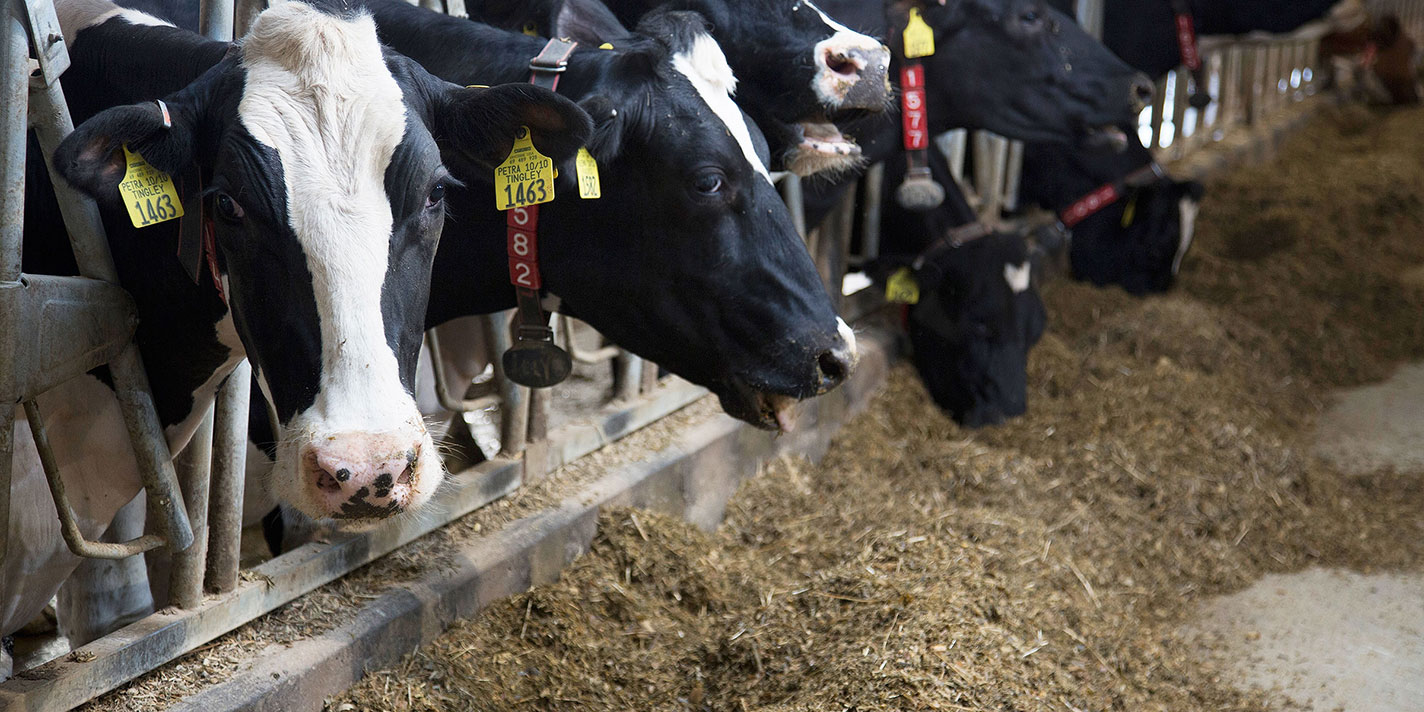
POLYGON ((416 508, 441 468, 382 315, 393 229, 384 177, 406 131, 402 90, 370 16, 300 3, 258 19, 242 66, 238 117, 281 159, 320 319, 319 390, 285 423, 273 493, 313 517, 416 508))

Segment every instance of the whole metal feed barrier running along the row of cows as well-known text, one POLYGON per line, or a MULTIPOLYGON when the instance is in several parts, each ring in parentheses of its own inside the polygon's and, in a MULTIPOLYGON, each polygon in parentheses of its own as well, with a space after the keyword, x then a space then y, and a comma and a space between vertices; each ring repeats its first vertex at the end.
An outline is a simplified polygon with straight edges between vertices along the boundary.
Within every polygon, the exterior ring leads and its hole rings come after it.
MULTIPOLYGON (((420 4, 464 14, 463 0, 420 0, 420 4)), ((1404 7, 1401 16, 1408 27, 1424 21, 1424 0, 1376 4, 1404 7)), ((202 0, 204 34, 218 40, 241 36, 265 6, 265 0, 202 0)), ((179 453, 175 471, 131 342, 132 306, 127 293, 114 285, 115 272, 97 208, 64 189, 63 181, 56 181, 60 204, 84 276, 20 273, 27 130, 36 130, 43 151, 50 155, 73 127, 58 81, 67 53, 53 23, 51 0, 0 0, 0 7, 4 9, 0 13, 4 23, 0 31, 0 81, 4 83, 0 104, 0 145, 4 145, 0 159, 0 396, 9 406, 24 404, 31 429, 43 440, 43 413, 34 406, 36 399, 68 377, 108 363, 135 453, 144 464, 148 511, 155 517, 154 528, 161 538, 145 537, 125 550, 104 548, 104 544, 70 534, 67 543, 81 555, 115 557, 157 545, 168 545, 175 553, 172 608, 84 645, 77 655, 36 661, 28 669, 17 669, 13 679, 0 684, 0 709, 67 709, 93 699, 706 394, 705 389, 681 379, 659 379, 656 365, 615 346, 591 345, 600 337, 588 333, 587 325, 561 316, 557 330, 578 363, 617 365, 617 392, 611 403, 551 427, 551 390, 530 392, 503 377, 500 355, 510 346, 510 313, 483 318, 484 356, 493 375, 478 383, 447 383, 436 367, 434 387, 446 409, 467 416, 456 420, 457 427, 481 417, 497 423, 498 451, 484 463, 451 473, 431 514, 400 517, 365 534, 337 534, 252 568, 239 568, 249 370, 244 363, 228 377, 205 426, 179 453), (31 38, 38 40, 34 47, 43 47, 37 58, 30 57, 31 38)), ((1101 27, 1101 0, 1079 1, 1078 17, 1085 27, 1101 27)), ((1319 36, 1306 30, 1287 37, 1203 41, 1210 91, 1218 101, 1200 115, 1192 114, 1195 110, 1189 110, 1185 100, 1179 101, 1185 94, 1176 77, 1185 73, 1178 73, 1159 87, 1159 98, 1143 118, 1145 135, 1151 132, 1153 148, 1165 158, 1182 158, 1269 121, 1283 107, 1310 94, 1314 77, 1309 70, 1316 61, 1317 44, 1319 36)), ((1020 144, 964 131, 940 137, 937 144, 984 219, 998 222, 1002 211, 1017 208, 1020 144), (973 175, 965 175, 967 165, 973 165, 973 175)), ((779 178, 797 229, 807 238, 815 263, 849 320, 883 303, 879 290, 867 288, 867 279, 846 275, 847 263, 879 253, 883 181, 881 167, 871 167, 862 178, 860 191, 847 191, 844 202, 823 225, 807 229, 799 179, 793 175, 779 178), (864 195, 859 214, 857 192, 864 195), (853 255, 850 234, 857 222, 862 241, 853 255)), ((439 357, 439 335, 427 333, 426 343, 439 357)), ((0 409, 0 557, 6 551, 10 514, 13 419, 14 407, 0 409)), ((40 446, 43 451, 43 443, 40 446)), ((57 477, 51 480, 58 486, 56 494, 63 514, 63 483, 57 477)))

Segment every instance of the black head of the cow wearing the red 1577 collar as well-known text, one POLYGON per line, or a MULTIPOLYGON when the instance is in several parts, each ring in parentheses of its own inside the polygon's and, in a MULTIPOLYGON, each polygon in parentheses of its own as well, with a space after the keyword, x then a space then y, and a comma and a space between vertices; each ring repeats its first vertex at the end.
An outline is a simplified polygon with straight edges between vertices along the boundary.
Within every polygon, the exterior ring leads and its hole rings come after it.
POLYGON ((1122 148, 1152 83, 1042 0, 890 0, 899 28, 923 7, 930 128, 987 128, 1010 138, 1122 148))

